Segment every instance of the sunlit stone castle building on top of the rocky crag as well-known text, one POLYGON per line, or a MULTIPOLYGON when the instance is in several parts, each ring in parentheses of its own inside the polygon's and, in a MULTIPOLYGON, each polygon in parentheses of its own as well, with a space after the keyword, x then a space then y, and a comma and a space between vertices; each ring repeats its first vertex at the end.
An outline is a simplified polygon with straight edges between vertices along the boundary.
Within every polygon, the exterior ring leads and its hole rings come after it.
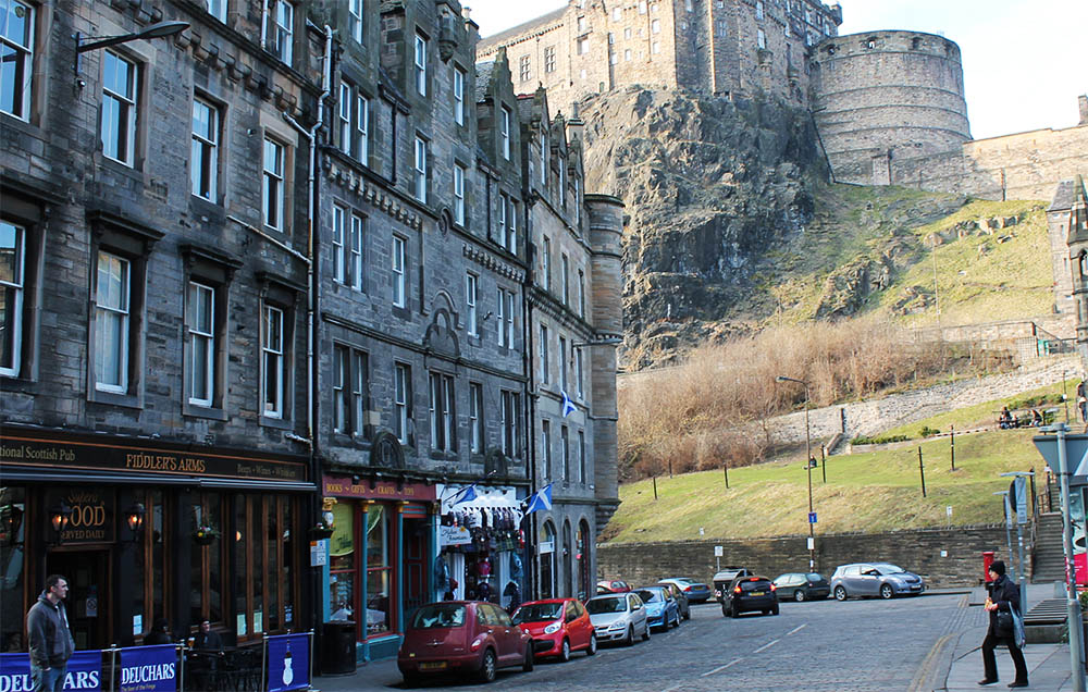
POLYGON ((570 0, 480 42, 505 49, 515 89, 554 108, 628 85, 807 102, 809 46, 834 36, 838 4, 811 0, 570 0))

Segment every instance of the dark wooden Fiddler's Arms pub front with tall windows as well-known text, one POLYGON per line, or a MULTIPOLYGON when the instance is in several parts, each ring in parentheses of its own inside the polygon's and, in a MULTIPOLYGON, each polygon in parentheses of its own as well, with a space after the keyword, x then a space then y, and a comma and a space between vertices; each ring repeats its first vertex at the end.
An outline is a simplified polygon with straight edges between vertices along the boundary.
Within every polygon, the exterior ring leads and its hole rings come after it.
POLYGON ((306 457, 78 435, 0 432, 0 650, 46 576, 71 585, 77 648, 178 639, 208 619, 232 645, 311 627, 302 527, 306 457))

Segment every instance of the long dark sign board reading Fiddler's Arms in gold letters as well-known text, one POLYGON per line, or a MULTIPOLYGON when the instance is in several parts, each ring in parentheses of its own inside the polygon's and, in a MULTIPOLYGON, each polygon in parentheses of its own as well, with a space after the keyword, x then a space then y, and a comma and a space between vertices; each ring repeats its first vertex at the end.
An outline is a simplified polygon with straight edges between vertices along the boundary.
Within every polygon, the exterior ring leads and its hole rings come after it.
POLYGON ((151 475, 242 478, 305 482, 306 462, 193 445, 118 444, 92 435, 61 435, 5 430, 0 435, 0 461, 23 467, 121 471, 151 475))

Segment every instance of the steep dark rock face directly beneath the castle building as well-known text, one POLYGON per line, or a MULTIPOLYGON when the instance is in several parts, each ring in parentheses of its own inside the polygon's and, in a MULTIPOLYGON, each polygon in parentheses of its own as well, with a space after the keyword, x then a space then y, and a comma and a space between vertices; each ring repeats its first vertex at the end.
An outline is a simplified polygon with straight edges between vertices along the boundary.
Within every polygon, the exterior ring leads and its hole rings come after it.
POLYGON ((582 119, 585 188, 621 197, 630 212, 628 367, 738 329, 726 320, 756 260, 804 230, 827 178, 808 113, 631 87, 583 101, 582 119))

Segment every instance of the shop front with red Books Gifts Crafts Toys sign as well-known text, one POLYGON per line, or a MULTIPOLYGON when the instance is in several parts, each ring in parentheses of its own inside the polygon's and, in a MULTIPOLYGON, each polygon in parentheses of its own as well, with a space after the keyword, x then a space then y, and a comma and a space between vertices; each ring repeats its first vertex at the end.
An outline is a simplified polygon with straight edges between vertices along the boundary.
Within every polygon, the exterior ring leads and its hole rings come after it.
POLYGON ((406 618, 430 601, 435 486, 326 474, 322 495, 324 620, 355 623, 358 659, 395 655, 406 618))

